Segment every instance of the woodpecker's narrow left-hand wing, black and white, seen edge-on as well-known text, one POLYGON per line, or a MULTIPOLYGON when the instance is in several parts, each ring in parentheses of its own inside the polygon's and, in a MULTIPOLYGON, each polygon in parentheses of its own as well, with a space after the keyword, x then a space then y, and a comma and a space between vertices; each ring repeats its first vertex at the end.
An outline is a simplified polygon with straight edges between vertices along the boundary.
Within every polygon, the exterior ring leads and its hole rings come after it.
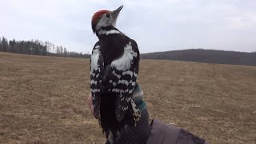
POLYGON ((104 74, 104 60, 99 42, 94 46, 90 57, 90 91, 92 95, 95 118, 100 119, 100 101, 103 93, 102 78, 104 74))

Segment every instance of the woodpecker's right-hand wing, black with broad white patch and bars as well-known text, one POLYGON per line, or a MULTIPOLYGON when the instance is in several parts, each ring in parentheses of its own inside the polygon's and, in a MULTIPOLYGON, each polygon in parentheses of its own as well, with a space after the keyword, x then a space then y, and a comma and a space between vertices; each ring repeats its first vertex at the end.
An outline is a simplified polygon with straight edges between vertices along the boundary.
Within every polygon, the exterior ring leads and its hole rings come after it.
POLYGON ((120 58, 111 62, 107 90, 117 95, 115 116, 118 122, 122 121, 131 106, 131 98, 138 75, 138 63, 139 51, 134 40, 130 40, 124 47, 120 58))

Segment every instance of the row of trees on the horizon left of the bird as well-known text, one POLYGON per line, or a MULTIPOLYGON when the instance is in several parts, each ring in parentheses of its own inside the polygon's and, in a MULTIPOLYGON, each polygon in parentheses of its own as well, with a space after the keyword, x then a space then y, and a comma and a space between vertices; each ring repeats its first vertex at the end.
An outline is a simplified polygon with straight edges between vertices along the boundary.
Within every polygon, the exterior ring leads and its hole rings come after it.
POLYGON ((17 41, 15 39, 8 41, 5 37, 0 37, 0 51, 18 54, 90 58, 90 54, 68 51, 66 50, 66 47, 55 46, 51 42, 42 42, 39 40, 17 41))

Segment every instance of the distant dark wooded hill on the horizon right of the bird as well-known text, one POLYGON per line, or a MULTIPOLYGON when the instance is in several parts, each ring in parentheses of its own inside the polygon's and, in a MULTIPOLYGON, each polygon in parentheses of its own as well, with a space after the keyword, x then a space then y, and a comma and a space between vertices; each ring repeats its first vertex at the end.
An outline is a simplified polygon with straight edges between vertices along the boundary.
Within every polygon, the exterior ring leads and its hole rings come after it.
POLYGON ((141 54, 141 58, 256 66, 256 52, 190 49, 141 54))

